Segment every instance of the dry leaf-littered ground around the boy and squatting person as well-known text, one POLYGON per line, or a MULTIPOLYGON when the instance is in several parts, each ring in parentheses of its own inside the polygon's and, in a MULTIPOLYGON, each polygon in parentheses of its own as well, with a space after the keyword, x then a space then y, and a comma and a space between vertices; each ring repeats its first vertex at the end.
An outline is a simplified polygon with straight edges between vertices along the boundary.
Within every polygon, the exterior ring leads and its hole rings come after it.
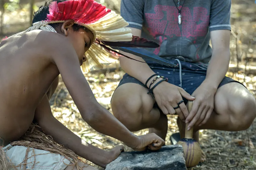
MULTIPOLYGON (((87 74, 86 79, 90 83, 97 100, 111 112, 110 99, 122 78, 124 71, 107 73, 87 74)), ((241 74, 228 73, 228 76, 244 81, 241 74)), ((250 89, 254 86, 256 77, 245 77, 248 81, 245 85, 250 89), (251 85, 250 85, 251 84, 251 85)), ((254 86, 255 87, 255 86, 254 86)), ((251 90, 255 93, 255 89, 251 90)), ((123 145, 122 142, 103 135, 93 130, 81 118, 72 98, 70 97, 64 83, 60 81, 56 93, 52 97, 52 112, 54 116, 70 130, 87 142, 101 149, 109 150, 116 145, 123 145)), ((169 129, 166 137, 166 144, 170 145, 170 136, 178 131, 176 116, 168 116, 169 129)), ((137 135, 147 134, 148 129, 135 132, 137 135)), ((218 169, 218 170, 248 170, 256 169, 256 121, 247 131, 200 131, 201 147, 206 152, 206 162, 194 167, 196 170, 218 169), (249 139, 249 140, 248 140, 249 139)), ((126 151, 131 148, 125 146, 126 151)), ((97 167, 97 166, 96 166, 97 167)))

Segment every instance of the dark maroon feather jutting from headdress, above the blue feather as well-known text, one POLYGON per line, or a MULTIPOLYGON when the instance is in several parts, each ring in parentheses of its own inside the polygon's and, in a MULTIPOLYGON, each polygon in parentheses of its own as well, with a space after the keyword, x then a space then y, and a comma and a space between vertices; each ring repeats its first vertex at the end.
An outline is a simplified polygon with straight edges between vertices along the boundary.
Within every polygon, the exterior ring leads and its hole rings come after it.
POLYGON ((120 46, 120 47, 144 47, 144 48, 157 48, 159 44, 149 41, 147 39, 140 38, 138 36, 132 36, 132 41, 100 41, 107 46, 120 46))

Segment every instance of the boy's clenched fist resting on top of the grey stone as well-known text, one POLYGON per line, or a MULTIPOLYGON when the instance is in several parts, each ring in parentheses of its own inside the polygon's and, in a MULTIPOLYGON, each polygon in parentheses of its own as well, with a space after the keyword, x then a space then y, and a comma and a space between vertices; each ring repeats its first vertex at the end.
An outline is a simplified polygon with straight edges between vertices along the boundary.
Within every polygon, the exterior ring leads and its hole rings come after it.
POLYGON ((155 133, 138 136, 138 143, 131 147, 135 151, 145 151, 146 149, 158 150, 164 145, 164 140, 155 133))

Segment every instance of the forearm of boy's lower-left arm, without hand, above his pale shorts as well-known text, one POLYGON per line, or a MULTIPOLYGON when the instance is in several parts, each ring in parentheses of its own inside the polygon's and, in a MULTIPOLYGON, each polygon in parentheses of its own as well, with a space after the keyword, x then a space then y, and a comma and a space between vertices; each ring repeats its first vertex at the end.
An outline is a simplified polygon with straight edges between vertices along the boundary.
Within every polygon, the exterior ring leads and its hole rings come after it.
POLYGON ((47 120, 38 121, 38 124, 42 127, 46 135, 52 136, 54 141, 64 145, 78 156, 98 166, 106 166, 105 164, 109 162, 106 151, 85 142, 53 116, 48 117, 47 120))

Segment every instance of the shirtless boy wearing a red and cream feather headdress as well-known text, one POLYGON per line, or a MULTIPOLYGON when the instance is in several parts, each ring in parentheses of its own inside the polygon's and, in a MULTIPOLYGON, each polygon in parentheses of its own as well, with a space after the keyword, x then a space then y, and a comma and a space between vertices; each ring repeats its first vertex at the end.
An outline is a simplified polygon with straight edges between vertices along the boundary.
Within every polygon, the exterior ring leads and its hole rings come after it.
POLYGON ((82 73, 113 60, 94 43, 96 39, 132 40, 131 30, 124 28, 127 25, 122 17, 93 0, 58 0, 40 7, 28 30, 0 43, 1 168, 63 170, 76 165, 77 169, 93 169, 79 162, 77 155, 105 168, 124 150, 123 145, 108 152, 96 148, 53 117, 49 100, 59 74, 82 118, 96 131, 136 151, 164 145, 154 133, 136 136, 129 131, 96 101, 82 73), (37 125, 31 126, 33 120, 45 134, 37 125))

